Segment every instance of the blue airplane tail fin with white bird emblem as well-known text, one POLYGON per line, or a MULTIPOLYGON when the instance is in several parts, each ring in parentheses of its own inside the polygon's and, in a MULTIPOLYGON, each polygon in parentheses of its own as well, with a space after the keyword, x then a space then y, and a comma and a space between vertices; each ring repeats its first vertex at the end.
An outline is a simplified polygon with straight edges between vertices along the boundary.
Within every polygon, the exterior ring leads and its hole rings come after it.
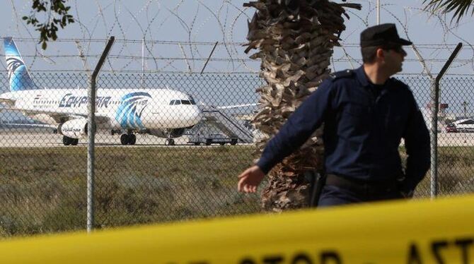
POLYGON ((4 49, 6 68, 8 68, 8 81, 10 83, 10 91, 16 92, 20 90, 33 90, 36 85, 28 73, 25 62, 21 57, 18 48, 12 37, 4 38, 4 49))

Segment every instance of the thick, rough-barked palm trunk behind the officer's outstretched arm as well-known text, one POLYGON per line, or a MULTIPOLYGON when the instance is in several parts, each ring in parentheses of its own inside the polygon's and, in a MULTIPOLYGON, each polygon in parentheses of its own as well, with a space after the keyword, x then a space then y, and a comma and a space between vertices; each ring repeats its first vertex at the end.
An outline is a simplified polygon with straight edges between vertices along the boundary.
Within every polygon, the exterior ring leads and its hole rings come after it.
MULTIPOLYGON (((253 119, 262 132, 256 145, 260 155, 267 141, 294 109, 328 77, 333 47, 340 45, 345 30, 345 8, 359 4, 337 4, 328 0, 259 0, 244 4, 256 8, 248 24, 248 47, 258 52, 260 76, 266 85, 260 93, 259 112, 253 119)), ((269 173, 262 193, 262 207, 281 211, 308 205, 309 182, 304 172, 323 167, 322 130, 316 131, 299 151, 269 173)))

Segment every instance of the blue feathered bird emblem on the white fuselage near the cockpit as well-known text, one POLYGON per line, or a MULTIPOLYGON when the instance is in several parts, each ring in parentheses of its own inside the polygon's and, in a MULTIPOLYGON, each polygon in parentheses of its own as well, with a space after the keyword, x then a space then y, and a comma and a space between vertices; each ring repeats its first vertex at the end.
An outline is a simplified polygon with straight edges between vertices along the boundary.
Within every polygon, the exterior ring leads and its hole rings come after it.
POLYGON ((122 128, 145 128, 141 114, 151 100, 148 92, 131 92, 124 95, 115 114, 115 120, 122 128))

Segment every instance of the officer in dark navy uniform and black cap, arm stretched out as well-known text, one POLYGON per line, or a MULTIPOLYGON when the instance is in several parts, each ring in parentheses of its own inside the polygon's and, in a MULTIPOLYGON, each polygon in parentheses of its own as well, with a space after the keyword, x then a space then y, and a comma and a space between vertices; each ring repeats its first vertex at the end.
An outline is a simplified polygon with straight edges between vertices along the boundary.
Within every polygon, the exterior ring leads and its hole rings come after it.
POLYGON ((238 191, 253 193, 265 174, 324 123, 325 185, 318 206, 411 197, 429 168, 429 133, 410 88, 391 78, 407 55, 394 24, 361 33, 363 65, 321 83, 270 140, 238 191), (398 147, 405 140, 407 164, 398 147))

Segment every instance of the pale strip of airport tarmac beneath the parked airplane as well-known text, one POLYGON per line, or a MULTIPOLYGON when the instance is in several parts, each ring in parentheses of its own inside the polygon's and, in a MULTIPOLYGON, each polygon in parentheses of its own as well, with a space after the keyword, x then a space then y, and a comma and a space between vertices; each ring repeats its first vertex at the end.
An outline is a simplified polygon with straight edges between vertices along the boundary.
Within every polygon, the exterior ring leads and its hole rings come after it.
MULTIPOLYGON (((87 138, 79 139, 77 146, 65 146, 62 143, 62 135, 51 132, 28 132, 28 131, 4 131, 0 130, 0 148, 77 148, 87 145, 87 138)), ((192 146, 187 143, 187 136, 175 138, 175 145, 165 145, 165 138, 158 138, 151 135, 137 134, 136 145, 121 145, 120 135, 96 134, 96 145, 98 147, 115 146, 122 148, 139 148, 149 146, 159 146, 167 148, 192 146)), ((242 145, 242 144, 239 144, 242 145)), ((403 145, 403 140, 402 140, 403 145)), ((218 146, 218 145, 212 145, 218 146)), ((466 147, 474 146, 474 133, 439 133, 439 147, 466 147)))

